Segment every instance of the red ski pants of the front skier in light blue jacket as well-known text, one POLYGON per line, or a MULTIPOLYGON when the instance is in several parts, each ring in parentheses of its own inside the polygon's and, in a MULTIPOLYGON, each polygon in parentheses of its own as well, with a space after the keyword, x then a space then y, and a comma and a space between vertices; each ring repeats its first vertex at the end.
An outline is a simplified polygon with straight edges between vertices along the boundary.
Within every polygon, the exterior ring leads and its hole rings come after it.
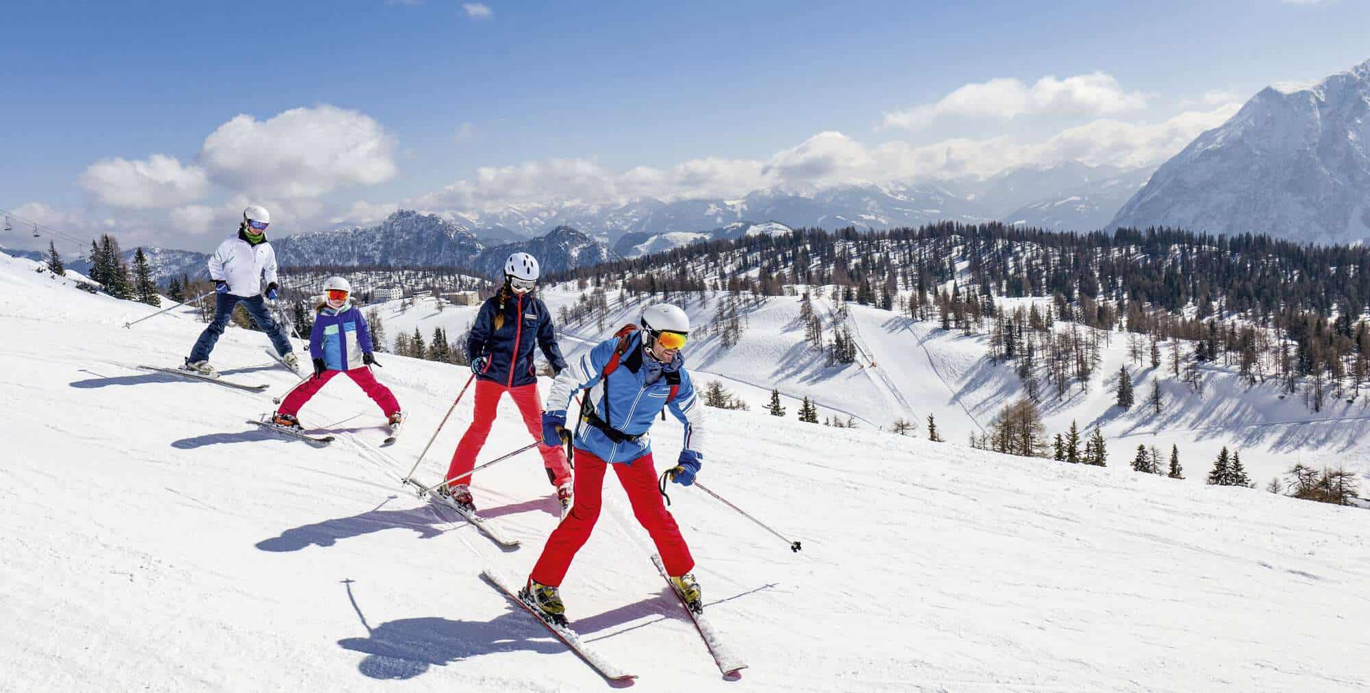
POLYGON ((575 449, 575 500, 570 515, 552 530, 547 546, 533 566, 532 578, 543 585, 560 586, 575 552, 590 538, 595 520, 599 519, 600 497, 604 489, 604 467, 614 467, 618 482, 627 492, 637 522, 652 536, 656 552, 662 556, 669 575, 684 575, 695 568, 695 559, 681 537, 675 518, 662 503, 656 489, 656 470, 652 467, 652 453, 627 464, 610 464, 595 455, 575 449))

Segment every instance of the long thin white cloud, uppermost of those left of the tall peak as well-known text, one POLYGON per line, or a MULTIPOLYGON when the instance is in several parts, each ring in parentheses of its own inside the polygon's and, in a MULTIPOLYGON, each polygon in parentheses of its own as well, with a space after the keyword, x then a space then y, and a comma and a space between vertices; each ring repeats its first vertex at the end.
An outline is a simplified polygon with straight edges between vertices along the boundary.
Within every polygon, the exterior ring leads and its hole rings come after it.
POLYGON ((932 104, 885 112, 881 125, 919 130, 941 118, 1112 115, 1145 105, 1145 94, 1126 92, 1118 79, 1099 71, 1064 79, 1047 75, 1032 86, 1018 79, 996 78, 960 86, 932 104))

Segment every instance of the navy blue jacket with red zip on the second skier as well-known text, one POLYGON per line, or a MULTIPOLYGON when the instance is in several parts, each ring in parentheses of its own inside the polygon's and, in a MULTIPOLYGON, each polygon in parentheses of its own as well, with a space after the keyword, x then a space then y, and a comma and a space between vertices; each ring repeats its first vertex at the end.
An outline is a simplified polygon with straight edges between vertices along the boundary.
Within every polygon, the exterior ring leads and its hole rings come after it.
POLYGON ((489 357, 477 378, 518 388, 537 382, 534 345, 541 346, 552 370, 562 373, 566 368, 547 304, 533 292, 521 296, 501 289, 481 305, 466 340, 466 357, 473 362, 480 356, 489 357))

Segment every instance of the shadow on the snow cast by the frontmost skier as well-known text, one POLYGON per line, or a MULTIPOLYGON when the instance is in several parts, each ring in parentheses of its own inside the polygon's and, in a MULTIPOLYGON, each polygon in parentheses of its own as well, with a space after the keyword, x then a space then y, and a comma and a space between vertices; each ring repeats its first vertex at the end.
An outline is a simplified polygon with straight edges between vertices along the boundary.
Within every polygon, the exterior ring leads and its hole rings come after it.
POLYGON ((548 633, 512 604, 508 611, 489 622, 452 620, 437 616, 399 619, 371 627, 352 594, 352 581, 347 585, 348 600, 356 611, 366 637, 342 638, 338 646, 366 655, 356 668, 374 679, 410 679, 430 667, 445 667, 464 659, 492 652, 526 649, 543 655, 566 652, 566 646, 549 640, 548 633), (534 640, 537 638, 537 640, 534 640))

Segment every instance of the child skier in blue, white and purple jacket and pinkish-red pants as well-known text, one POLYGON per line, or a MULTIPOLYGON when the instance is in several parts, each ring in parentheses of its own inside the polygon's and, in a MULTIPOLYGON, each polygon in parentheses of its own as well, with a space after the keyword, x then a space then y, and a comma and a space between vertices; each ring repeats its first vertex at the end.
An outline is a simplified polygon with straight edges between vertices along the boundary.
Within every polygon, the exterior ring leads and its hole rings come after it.
POLYGON ((315 310, 314 330, 310 333, 314 375, 304 378, 286 393, 271 420, 277 426, 299 430, 300 420, 296 419, 296 414, 304 403, 334 375, 345 373, 381 407, 390 431, 396 431, 404 415, 390 389, 371 375, 369 366, 375 363, 375 357, 371 356, 371 331, 362 311, 352 305, 352 286, 341 277, 329 277, 323 282, 323 303, 315 310))

